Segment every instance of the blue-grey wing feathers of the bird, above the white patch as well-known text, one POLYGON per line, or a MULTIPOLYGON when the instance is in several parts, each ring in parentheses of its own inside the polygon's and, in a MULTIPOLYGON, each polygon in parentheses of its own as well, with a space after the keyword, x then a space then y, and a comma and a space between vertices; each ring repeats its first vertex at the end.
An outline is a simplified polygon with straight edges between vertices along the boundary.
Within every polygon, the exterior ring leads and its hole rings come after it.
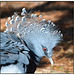
POLYGON ((14 64, 16 61, 21 64, 29 64, 29 49, 22 44, 20 38, 13 33, 0 33, 0 65, 14 64), (24 50, 24 51, 22 51, 24 50), (25 51, 26 50, 26 51, 25 51))

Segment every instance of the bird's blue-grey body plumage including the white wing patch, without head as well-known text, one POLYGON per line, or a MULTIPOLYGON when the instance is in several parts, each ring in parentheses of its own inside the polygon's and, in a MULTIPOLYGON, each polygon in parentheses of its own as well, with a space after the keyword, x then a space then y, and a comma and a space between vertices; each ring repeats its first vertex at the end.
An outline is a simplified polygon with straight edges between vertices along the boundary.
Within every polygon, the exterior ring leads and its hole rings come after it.
POLYGON ((1 73, 33 72, 28 70, 28 68, 30 68, 29 66, 27 69, 26 67, 32 62, 34 63, 33 60, 35 60, 36 62, 35 57, 38 57, 38 56, 35 55, 34 52, 30 51, 27 48, 27 46, 22 45, 23 40, 17 37, 16 35, 14 35, 13 33, 7 34, 7 33, 1 32, 0 34, 1 34, 1 37, 4 37, 4 39, 1 38, 0 40, 1 73), (23 70, 20 70, 20 68, 22 68, 23 70), (11 69, 14 69, 14 70, 11 70, 11 69))

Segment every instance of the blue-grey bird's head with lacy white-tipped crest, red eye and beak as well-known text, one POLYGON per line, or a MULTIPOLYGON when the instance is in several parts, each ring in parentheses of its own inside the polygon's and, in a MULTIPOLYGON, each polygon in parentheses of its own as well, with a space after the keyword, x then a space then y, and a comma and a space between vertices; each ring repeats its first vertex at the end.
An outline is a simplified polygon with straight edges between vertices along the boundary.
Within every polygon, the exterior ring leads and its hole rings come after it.
POLYGON ((14 32, 17 36, 24 39, 28 48, 39 57, 46 56, 51 64, 53 48, 60 42, 62 38, 61 31, 56 29, 53 22, 39 19, 37 14, 26 15, 25 8, 19 15, 13 15, 10 24, 6 22, 7 29, 5 32, 14 32))

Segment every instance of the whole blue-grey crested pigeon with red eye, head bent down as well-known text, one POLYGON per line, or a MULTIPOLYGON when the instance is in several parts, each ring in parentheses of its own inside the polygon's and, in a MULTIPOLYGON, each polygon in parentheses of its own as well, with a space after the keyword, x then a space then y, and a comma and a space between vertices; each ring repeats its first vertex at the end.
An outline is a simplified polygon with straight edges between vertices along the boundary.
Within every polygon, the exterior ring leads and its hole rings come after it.
POLYGON ((6 30, 0 32, 1 73, 35 73, 43 56, 53 65, 53 48, 63 34, 56 25, 42 15, 30 14, 25 8, 21 15, 8 17, 6 30))

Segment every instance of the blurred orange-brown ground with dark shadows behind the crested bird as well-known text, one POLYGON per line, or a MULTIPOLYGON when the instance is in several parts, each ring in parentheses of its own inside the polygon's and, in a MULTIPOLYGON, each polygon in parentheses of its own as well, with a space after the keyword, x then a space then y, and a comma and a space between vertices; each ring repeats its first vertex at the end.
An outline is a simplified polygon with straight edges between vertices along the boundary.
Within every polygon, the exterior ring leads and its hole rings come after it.
POLYGON ((14 12, 21 13, 25 7, 27 12, 43 15, 51 20, 63 33, 63 41, 54 48, 52 66, 43 57, 35 73, 74 73, 74 2, 73 1, 40 1, 40 2, 1 2, 1 32, 6 29, 5 22, 14 12))

